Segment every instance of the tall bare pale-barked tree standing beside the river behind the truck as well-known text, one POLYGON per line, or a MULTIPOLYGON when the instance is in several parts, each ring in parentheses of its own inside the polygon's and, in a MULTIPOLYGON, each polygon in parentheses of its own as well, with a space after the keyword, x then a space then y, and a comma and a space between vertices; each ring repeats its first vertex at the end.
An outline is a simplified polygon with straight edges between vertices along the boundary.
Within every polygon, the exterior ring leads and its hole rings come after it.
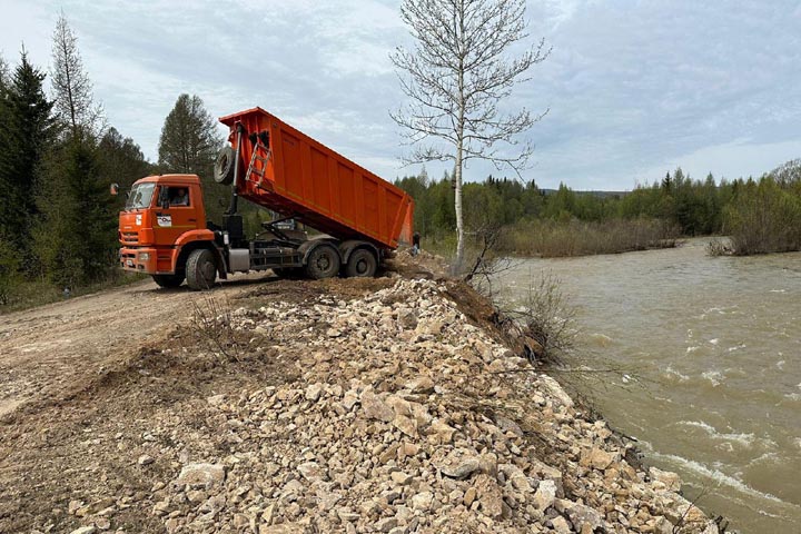
POLYGON ((414 46, 398 47, 392 60, 408 102, 390 115, 414 147, 406 164, 454 164, 458 269, 465 247, 463 169, 471 159, 518 175, 525 168, 533 145, 518 137, 547 111, 508 113, 502 105, 551 50, 544 39, 526 44, 525 0, 404 0, 400 17, 414 46), (513 55, 513 48, 522 51, 513 55))

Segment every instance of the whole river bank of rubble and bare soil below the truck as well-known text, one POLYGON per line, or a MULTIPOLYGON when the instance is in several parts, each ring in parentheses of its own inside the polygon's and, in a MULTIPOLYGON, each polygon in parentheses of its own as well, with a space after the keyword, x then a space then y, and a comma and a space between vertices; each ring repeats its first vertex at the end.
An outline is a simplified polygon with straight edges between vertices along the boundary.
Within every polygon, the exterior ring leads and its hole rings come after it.
POLYGON ((718 532, 462 285, 204 298, 69 396, 3 417, 0 531, 718 532))

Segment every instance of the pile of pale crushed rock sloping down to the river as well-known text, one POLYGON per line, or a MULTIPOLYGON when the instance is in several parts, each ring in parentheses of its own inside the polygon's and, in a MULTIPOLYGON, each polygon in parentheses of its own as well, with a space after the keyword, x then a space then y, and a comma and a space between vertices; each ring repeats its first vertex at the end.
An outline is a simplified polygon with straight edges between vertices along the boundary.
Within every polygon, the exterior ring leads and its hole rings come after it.
MULTIPOLYGON (((220 336, 268 339, 299 378, 211 396, 201 424, 165 407, 134 461, 171 469, 131 498, 169 533, 718 533, 678 475, 639 467, 445 289, 398 279, 220 317, 220 336)), ((108 528, 85 515, 76 533, 108 528)))

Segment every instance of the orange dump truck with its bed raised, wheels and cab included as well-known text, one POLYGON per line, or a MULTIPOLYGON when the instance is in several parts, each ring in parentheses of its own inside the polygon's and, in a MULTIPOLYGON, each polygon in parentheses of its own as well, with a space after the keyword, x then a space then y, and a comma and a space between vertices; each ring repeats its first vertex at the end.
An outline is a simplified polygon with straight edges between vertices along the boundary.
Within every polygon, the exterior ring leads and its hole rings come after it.
POLYGON ((414 202, 399 188, 261 108, 220 122, 230 134, 215 181, 231 188, 221 224, 206 220, 197 176, 142 178, 120 212, 122 269, 152 275, 162 287, 186 279, 192 289, 250 270, 374 276, 388 251, 411 243, 414 202), (240 197, 284 218, 247 238, 237 212, 240 197), (325 235, 308 239, 286 229, 283 222, 290 219, 325 235))

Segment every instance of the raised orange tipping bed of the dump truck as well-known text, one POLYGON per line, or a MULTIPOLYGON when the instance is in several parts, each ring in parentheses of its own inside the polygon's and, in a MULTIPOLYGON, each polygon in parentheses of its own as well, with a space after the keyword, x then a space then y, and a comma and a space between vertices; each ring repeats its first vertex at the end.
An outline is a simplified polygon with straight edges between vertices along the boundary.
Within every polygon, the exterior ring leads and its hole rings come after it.
POLYGON ((414 201, 402 189, 261 108, 219 120, 230 128, 234 149, 237 123, 245 128, 235 177, 240 197, 337 239, 388 249, 411 243, 414 201), (269 154, 255 141, 263 131, 269 132, 269 154))

